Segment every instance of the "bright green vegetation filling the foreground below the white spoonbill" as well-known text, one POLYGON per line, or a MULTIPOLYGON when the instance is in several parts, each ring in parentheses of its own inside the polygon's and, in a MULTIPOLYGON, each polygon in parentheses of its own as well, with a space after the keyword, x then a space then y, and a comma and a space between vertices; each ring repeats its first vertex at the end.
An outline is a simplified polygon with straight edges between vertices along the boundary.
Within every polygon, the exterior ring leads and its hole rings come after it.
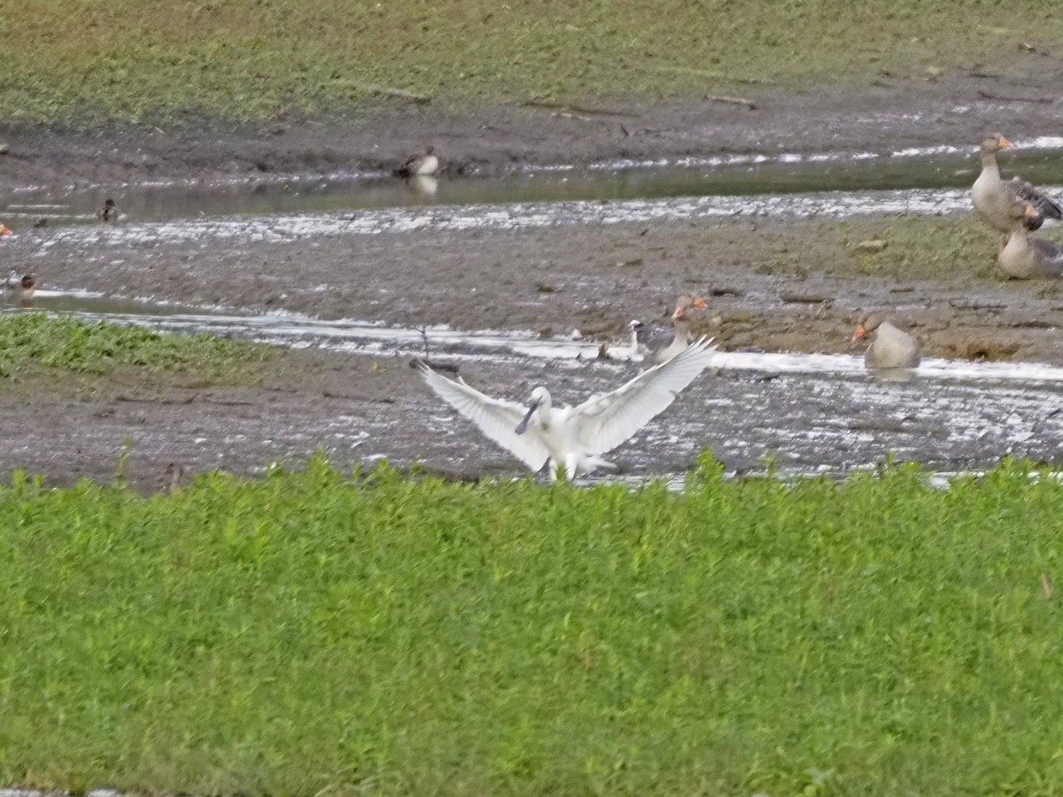
POLYGON ((16 476, 0 783, 1058 794, 1061 515, 1012 462, 947 491, 16 476))

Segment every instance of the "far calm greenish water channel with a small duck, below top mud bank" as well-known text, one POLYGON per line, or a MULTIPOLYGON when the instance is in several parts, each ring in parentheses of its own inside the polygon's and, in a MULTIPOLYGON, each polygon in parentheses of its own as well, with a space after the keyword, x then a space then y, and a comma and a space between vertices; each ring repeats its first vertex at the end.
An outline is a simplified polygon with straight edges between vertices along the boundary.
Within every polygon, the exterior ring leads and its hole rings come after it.
MULTIPOLYGON (((1040 185, 1063 184, 1063 138, 1017 141, 1006 170, 1040 185)), ((740 198, 760 194, 864 192, 966 188, 974 181, 975 148, 940 146, 891 152, 776 153, 657 160, 610 160, 586 169, 567 165, 514 171, 504 177, 404 182, 381 173, 336 173, 327 177, 271 179, 258 175, 224 183, 167 182, 119 188, 32 187, 0 203, 0 219, 16 232, 46 218, 50 226, 96 221, 105 196, 122 209, 123 221, 157 222, 233 215, 328 215, 343 210, 492 206, 608 200, 730 198, 726 213, 741 211, 740 198)), ((866 200, 865 200, 866 201, 866 200)), ((763 206, 763 202, 755 203, 763 206)), ((792 203, 783 203, 783 207, 792 203)), ((843 209, 851 203, 839 203, 843 209)), ((859 204, 859 203, 858 203, 859 204)), ((914 209, 934 213, 947 208, 914 209)), ((752 210, 766 213, 771 208, 752 210)), ((782 210, 787 211, 787 210, 782 210)), ((823 211, 811 206, 808 213, 823 211)), ((829 210, 828 210, 829 211, 829 210)))

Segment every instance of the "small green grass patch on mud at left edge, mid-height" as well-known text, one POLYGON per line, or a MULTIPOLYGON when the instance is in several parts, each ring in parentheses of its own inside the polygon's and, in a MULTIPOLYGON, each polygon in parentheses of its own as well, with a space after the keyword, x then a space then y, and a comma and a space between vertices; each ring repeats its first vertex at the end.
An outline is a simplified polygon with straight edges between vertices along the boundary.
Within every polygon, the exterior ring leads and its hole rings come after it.
POLYGON ((241 381, 273 351, 210 335, 159 334, 38 312, 0 315, 0 378, 28 376, 41 368, 87 374, 140 368, 241 381))

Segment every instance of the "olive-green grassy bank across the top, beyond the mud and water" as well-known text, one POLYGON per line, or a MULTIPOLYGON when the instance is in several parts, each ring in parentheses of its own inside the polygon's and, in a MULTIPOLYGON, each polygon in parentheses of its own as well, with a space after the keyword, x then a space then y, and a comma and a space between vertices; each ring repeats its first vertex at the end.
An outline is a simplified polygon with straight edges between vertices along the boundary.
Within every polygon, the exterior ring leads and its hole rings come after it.
POLYGON ((976 64, 1035 69, 1054 0, 28 0, 0 16, 5 118, 260 119, 364 103, 699 97, 976 64))

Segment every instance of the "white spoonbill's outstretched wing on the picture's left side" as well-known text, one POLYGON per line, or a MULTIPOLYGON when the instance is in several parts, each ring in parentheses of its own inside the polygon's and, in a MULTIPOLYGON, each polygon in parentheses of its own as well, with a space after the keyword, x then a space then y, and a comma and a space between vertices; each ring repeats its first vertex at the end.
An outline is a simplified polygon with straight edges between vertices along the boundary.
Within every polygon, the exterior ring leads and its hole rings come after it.
POLYGON ((524 435, 518 435, 513 430, 524 418, 527 407, 516 402, 492 398, 469 387, 460 377, 448 379, 423 362, 418 362, 417 368, 436 395, 476 424, 487 437, 516 455, 533 471, 540 470, 546 463, 550 451, 534 433, 534 427, 524 435))

